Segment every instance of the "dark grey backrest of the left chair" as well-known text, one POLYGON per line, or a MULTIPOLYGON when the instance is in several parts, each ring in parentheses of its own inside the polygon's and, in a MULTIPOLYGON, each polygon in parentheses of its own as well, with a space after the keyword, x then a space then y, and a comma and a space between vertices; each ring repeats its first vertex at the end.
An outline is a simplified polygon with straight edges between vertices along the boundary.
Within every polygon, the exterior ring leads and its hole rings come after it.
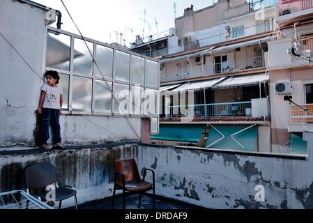
POLYGON ((27 188, 42 189, 56 183, 56 168, 52 164, 34 165, 26 168, 25 178, 27 188))

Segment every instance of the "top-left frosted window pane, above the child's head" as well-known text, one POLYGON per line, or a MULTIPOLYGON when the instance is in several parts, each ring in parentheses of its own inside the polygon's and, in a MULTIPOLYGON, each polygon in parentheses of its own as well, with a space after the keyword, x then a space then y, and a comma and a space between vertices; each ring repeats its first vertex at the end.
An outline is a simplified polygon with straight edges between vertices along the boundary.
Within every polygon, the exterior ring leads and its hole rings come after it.
POLYGON ((48 31, 46 67, 70 70, 70 36, 48 31))

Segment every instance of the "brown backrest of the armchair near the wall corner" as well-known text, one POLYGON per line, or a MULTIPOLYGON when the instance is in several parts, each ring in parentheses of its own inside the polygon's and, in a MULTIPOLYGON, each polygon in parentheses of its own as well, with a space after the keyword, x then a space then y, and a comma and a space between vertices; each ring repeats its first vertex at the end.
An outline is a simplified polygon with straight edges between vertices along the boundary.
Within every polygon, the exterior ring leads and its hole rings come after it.
MULTIPOLYGON (((130 181, 141 180, 137 163, 134 159, 130 160, 115 160, 115 172, 125 175, 125 183, 130 181)), ((122 179, 117 178, 117 183, 122 184, 122 179)))

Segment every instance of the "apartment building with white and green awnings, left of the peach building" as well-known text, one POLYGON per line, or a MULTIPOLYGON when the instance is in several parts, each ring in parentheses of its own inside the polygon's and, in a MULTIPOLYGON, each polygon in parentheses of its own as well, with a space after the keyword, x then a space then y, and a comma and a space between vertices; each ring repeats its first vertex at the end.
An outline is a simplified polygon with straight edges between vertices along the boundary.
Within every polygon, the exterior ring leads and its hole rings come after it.
POLYGON ((176 18, 176 52, 159 57, 155 143, 270 153, 266 67, 274 6, 220 0, 176 18))

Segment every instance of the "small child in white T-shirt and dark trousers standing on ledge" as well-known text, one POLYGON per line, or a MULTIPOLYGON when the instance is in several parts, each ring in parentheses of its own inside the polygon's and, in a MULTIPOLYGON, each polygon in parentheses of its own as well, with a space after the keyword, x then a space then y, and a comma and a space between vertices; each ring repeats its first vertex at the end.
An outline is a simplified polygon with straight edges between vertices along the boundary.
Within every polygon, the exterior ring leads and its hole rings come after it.
POLYGON ((47 84, 43 84, 38 105, 38 114, 41 115, 41 127, 39 145, 45 150, 52 149, 52 146, 47 144, 49 139, 49 124, 52 127, 53 144, 56 147, 64 148, 61 144, 61 130, 59 117, 63 104, 63 91, 59 84, 59 74, 56 71, 49 70, 45 72, 47 84))

